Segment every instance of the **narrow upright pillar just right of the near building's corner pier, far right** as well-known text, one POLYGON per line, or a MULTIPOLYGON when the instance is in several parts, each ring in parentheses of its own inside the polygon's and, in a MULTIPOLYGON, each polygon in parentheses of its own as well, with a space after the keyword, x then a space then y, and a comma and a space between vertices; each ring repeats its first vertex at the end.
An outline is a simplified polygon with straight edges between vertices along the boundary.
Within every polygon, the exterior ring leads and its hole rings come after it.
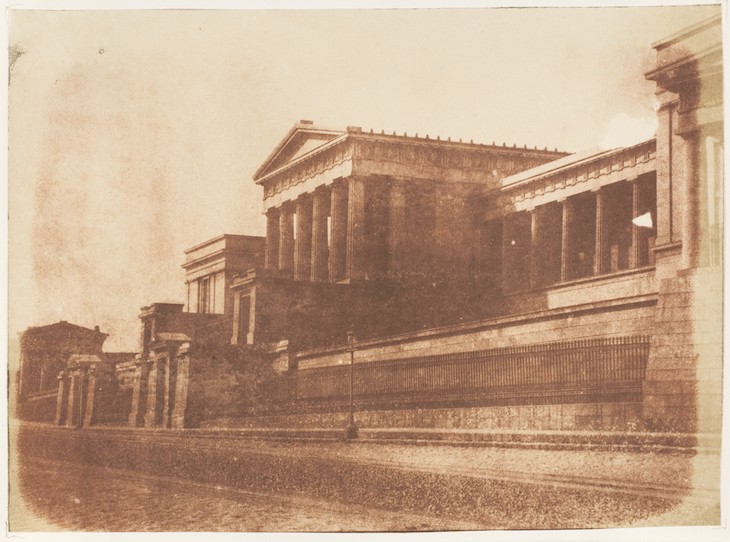
POLYGON ((700 228, 699 228, 699 146, 697 132, 684 137, 685 166, 682 190, 682 267, 697 267, 700 228))

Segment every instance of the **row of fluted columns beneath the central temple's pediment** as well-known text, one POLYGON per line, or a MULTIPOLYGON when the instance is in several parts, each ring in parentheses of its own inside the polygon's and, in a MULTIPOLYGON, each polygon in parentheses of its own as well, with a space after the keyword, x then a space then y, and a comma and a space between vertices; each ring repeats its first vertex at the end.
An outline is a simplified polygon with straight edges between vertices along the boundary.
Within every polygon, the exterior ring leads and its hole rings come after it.
POLYGON ((403 264, 407 235, 404 185, 383 178, 339 178, 269 209, 266 268, 311 282, 340 282, 367 278, 373 271, 397 271, 403 264), (386 196, 378 199, 374 194, 386 196), (384 211, 379 226, 386 233, 378 237, 372 231, 376 221, 366 213, 373 215, 379 209, 384 211), (372 261, 374 253, 385 255, 382 268, 372 261))

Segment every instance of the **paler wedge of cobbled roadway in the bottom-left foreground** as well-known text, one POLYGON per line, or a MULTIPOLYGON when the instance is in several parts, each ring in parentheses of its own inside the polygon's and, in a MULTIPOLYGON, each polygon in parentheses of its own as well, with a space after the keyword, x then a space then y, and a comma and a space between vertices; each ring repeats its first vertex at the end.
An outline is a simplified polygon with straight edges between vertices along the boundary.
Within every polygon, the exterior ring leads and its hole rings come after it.
MULTIPOLYGON (((24 461, 13 531, 438 530, 438 518, 223 488, 116 469, 24 461)), ((448 521, 450 528, 478 524, 448 521)))

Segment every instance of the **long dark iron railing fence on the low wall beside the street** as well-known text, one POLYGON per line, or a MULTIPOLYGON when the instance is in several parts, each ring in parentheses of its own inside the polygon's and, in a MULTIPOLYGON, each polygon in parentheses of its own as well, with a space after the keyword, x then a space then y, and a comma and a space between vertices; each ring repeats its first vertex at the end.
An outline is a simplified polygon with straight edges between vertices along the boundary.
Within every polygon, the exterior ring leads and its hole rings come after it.
MULTIPOLYGON (((353 393, 361 405, 621 402, 640 398, 649 338, 560 341, 360 364, 355 357, 353 393)), ((349 375, 348 365, 296 371, 296 402, 346 401, 349 375)))

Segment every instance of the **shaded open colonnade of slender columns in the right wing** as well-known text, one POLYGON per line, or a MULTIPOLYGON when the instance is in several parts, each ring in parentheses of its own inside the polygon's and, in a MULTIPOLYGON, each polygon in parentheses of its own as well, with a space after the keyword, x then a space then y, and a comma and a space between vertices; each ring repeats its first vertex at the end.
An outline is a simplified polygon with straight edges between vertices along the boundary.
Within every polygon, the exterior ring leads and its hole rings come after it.
POLYGON ((506 292, 639 268, 653 262, 656 220, 654 174, 513 213, 502 230, 502 285, 506 292))

